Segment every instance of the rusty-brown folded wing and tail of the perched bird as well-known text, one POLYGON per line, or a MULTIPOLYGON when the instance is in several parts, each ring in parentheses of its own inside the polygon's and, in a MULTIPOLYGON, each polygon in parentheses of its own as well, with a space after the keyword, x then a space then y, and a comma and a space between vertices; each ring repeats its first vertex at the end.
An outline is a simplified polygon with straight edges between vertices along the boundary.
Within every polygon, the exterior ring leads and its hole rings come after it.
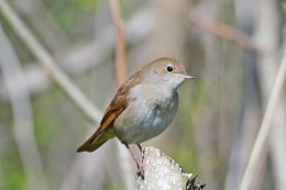
POLYGON ((134 76, 119 88, 100 122, 99 128, 77 149, 77 152, 94 152, 108 139, 116 137, 112 123, 128 105, 127 94, 129 93, 129 89, 139 83, 138 77, 134 76))

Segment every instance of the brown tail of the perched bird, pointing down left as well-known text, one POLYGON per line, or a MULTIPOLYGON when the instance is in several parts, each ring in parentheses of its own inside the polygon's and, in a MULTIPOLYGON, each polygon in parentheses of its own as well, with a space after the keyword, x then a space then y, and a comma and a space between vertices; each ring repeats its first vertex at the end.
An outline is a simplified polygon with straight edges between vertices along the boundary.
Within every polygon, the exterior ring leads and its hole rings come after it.
POLYGON ((96 132, 81 146, 79 146, 77 152, 94 152, 108 139, 113 137, 116 137, 116 134, 112 127, 105 130, 103 132, 96 132))

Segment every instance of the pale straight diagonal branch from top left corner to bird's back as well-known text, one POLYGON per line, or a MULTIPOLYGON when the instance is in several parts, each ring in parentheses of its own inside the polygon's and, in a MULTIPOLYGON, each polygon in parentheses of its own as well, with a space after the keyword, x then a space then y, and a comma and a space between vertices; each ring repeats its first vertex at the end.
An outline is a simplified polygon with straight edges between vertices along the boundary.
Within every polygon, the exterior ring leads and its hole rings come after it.
POLYGON ((19 19, 6 0, 0 0, 0 13, 13 27, 16 35, 25 43, 31 53, 40 60, 51 78, 64 90, 85 115, 92 122, 99 122, 100 111, 92 105, 86 96, 70 81, 70 79, 57 67, 54 58, 37 42, 24 23, 19 19))

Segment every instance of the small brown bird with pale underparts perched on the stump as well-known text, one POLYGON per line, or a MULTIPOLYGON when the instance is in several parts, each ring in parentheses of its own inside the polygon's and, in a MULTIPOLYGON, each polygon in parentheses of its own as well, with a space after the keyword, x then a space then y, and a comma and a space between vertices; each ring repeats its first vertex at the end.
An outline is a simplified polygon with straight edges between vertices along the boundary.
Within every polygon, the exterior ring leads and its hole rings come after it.
POLYGON ((94 152, 118 137, 136 161, 139 174, 144 176, 140 143, 157 136, 170 124, 178 108, 177 88, 185 79, 194 78, 174 58, 162 57, 147 64, 119 88, 100 126, 77 152, 94 152), (135 158, 130 144, 138 145, 141 158, 135 158))

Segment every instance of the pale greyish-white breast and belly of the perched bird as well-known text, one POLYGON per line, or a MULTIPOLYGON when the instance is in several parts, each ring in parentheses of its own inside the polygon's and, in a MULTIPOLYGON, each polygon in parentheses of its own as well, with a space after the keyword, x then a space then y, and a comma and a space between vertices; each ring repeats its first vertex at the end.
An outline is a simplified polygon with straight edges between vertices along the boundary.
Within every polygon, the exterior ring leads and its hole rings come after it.
POLYGON ((175 90, 135 86, 128 96, 128 108, 114 121, 114 131, 124 143, 142 143, 162 133, 173 121, 178 94, 175 90))

